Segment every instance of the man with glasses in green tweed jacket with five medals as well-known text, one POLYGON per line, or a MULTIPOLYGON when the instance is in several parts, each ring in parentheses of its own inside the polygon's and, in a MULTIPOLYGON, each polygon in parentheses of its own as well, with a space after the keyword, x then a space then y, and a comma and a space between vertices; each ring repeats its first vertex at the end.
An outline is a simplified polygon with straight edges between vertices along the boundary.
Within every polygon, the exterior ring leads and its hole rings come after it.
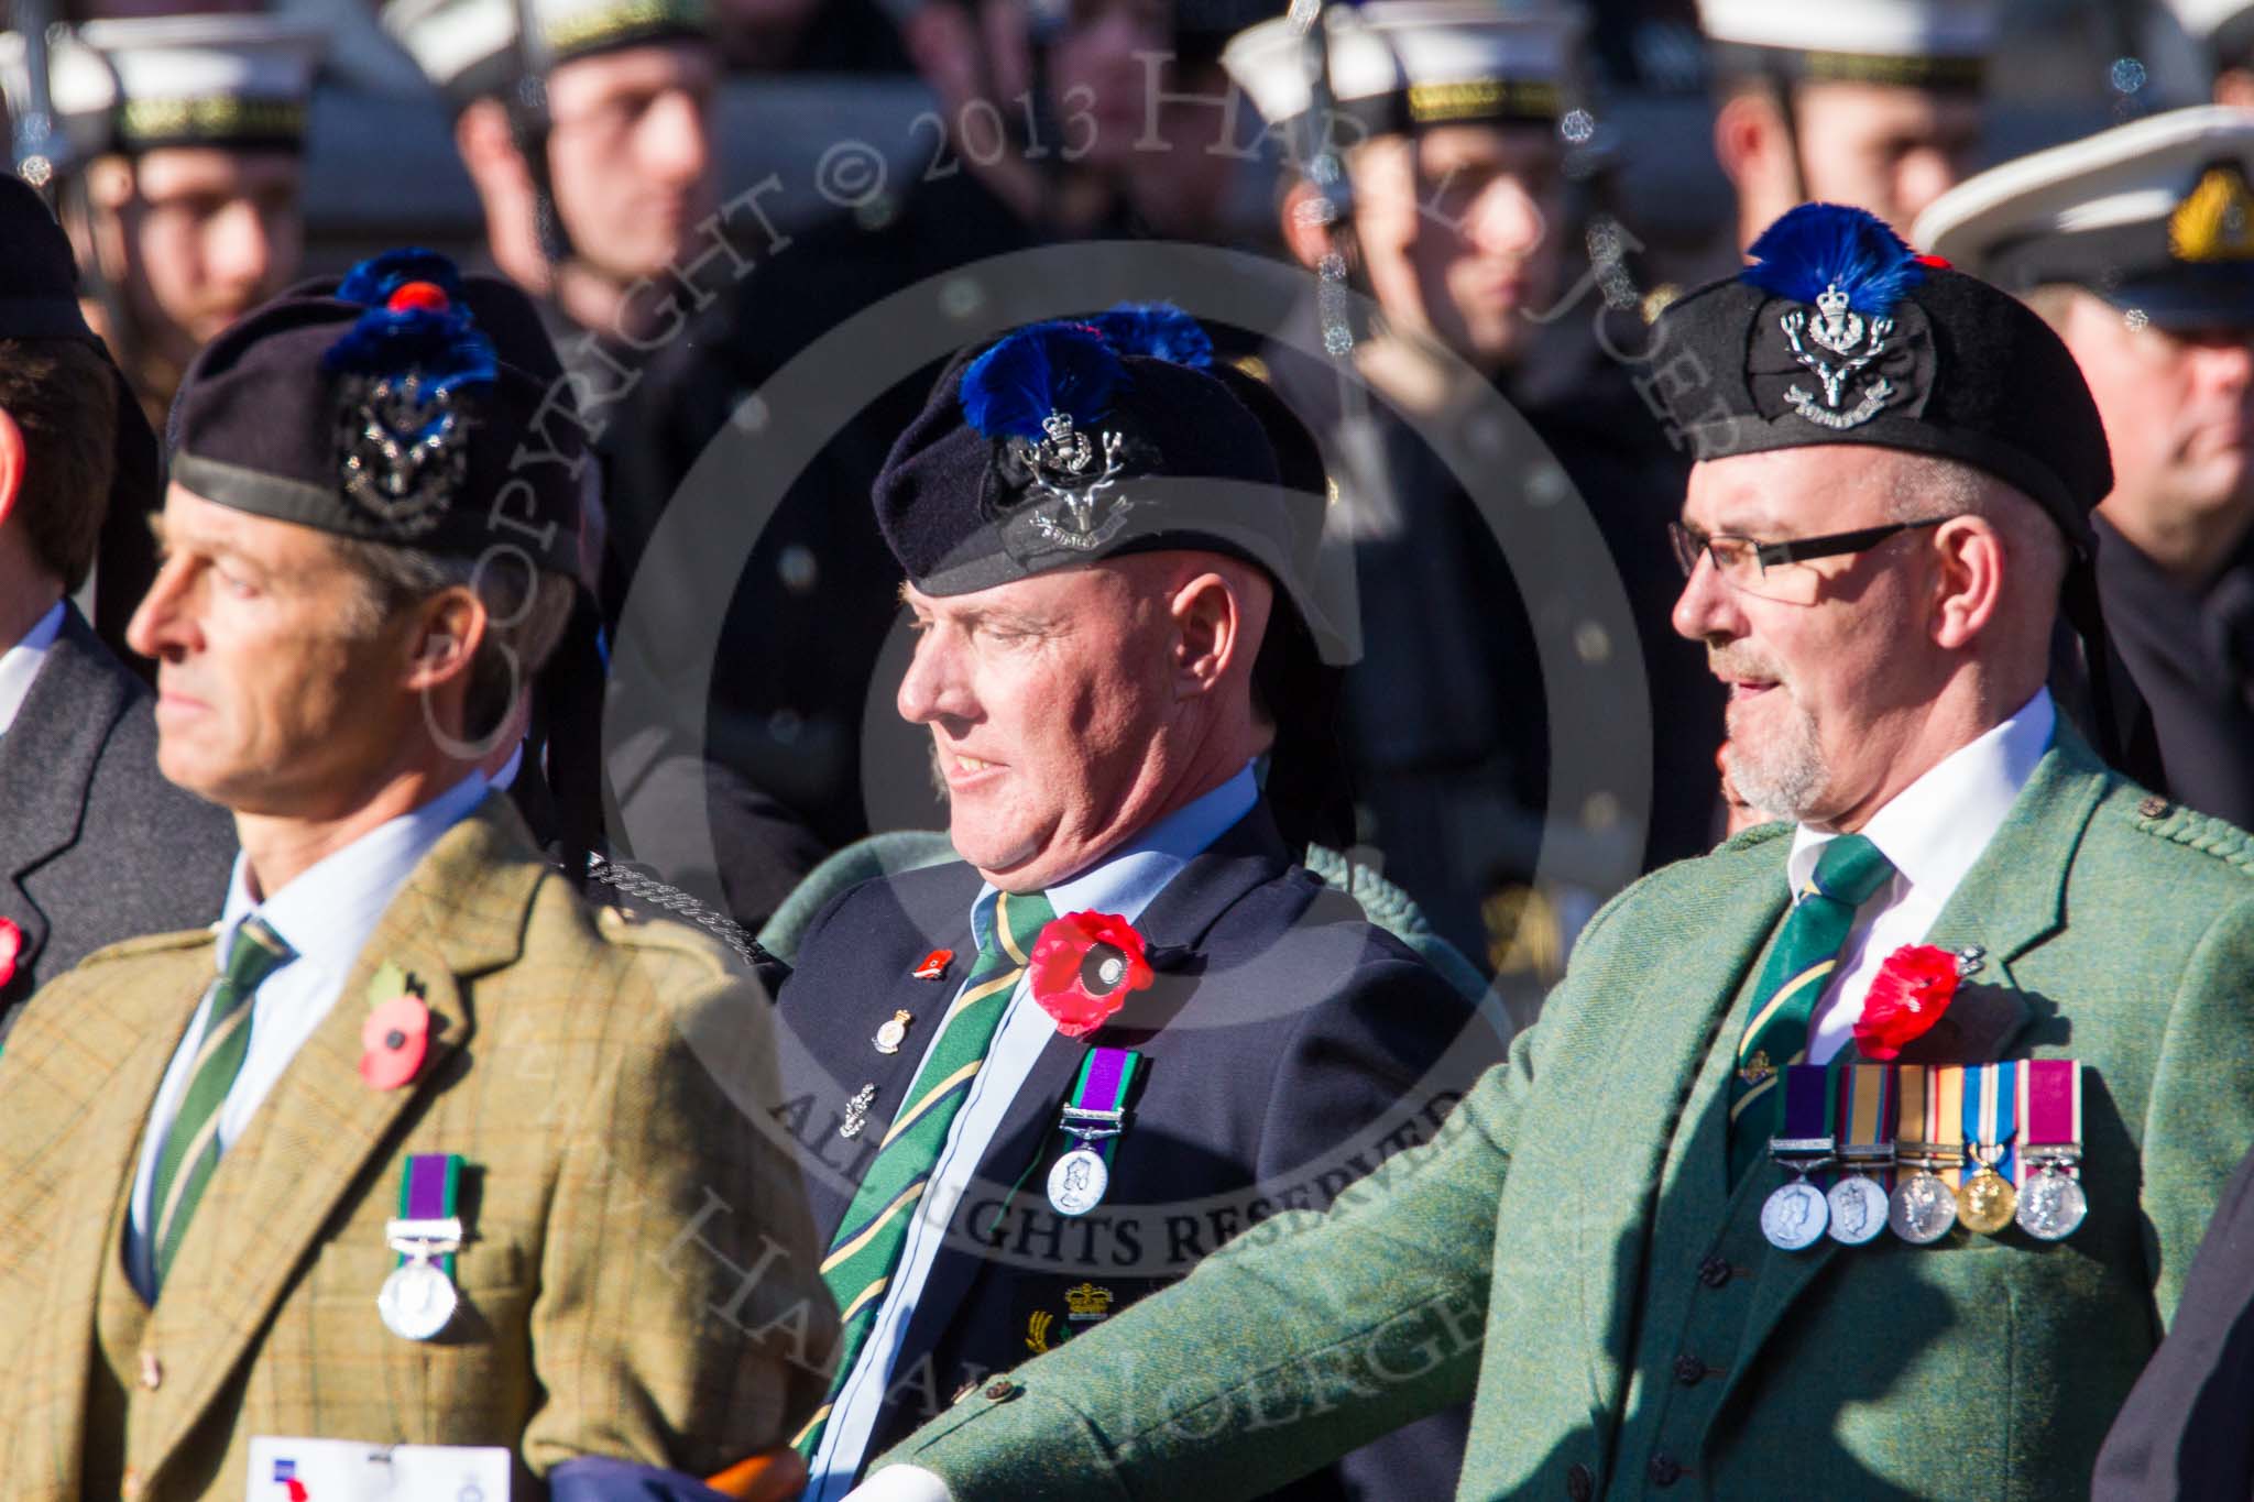
POLYGON ((2249 840, 2042 687, 2112 482, 2058 336, 1860 209, 1754 254, 1661 318, 1697 356, 1675 624, 1796 824, 1591 919, 1440 1142, 996 1378, 863 1502, 1249 1497, 1463 1398, 1465 1497, 2087 1488, 2254 1142, 2249 840), (1907 1155, 1891 1205, 1842 1148, 1907 1155))

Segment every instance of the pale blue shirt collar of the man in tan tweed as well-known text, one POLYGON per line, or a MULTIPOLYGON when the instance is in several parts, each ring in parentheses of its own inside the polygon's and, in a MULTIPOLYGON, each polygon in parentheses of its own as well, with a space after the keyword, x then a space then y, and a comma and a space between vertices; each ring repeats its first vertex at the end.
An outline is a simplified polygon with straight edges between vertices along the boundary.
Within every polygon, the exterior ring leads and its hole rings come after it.
POLYGON ((298 959, 343 977, 367 948, 367 935, 376 930, 376 919, 408 871, 485 799, 485 775, 471 772, 421 808, 376 824, 345 849, 322 856, 264 903, 252 901, 250 865, 237 853, 228 905, 219 914, 219 966, 228 964, 237 926, 255 912, 298 959))

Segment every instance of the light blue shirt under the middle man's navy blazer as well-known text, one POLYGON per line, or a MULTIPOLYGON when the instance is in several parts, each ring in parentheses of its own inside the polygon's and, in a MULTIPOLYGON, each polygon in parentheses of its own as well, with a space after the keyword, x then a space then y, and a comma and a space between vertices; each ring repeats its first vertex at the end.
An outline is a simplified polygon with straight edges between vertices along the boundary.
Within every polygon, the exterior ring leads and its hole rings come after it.
MULTIPOLYGON (((1260 784, 1251 763, 1210 793, 1183 804, 1145 829, 1134 844, 1098 862, 1095 867, 1048 887, 1048 903, 1057 912, 1116 912, 1134 923, 1150 908, 1150 901, 1165 889, 1181 867, 1190 865, 1208 844, 1237 824, 1253 804, 1260 802, 1260 784)), ((971 903, 971 932, 983 941, 994 932, 994 887, 980 887, 971 903)), ((960 989, 958 989, 960 993, 960 989)), ((852 1376, 838 1389, 836 1410, 823 1428, 823 1441, 814 1450, 811 1479, 802 1502, 834 1502, 852 1491, 852 1477, 868 1459, 868 1441, 877 1430, 884 1410, 884 1394, 893 1383, 893 1367, 899 1362, 899 1342, 908 1333, 915 1302, 931 1279, 931 1263, 938 1261, 947 1241, 947 1225, 953 1221, 956 1203, 978 1171, 978 1162, 994 1144, 1010 1103, 1032 1074, 1035 1061, 1048 1040, 1057 1036, 1055 1020, 1041 1011, 1026 980, 1010 993, 1001 1027, 994 1031, 994 1047, 971 1079, 969 1097, 947 1128, 947 1146, 931 1171, 931 1187, 917 1205, 908 1225, 908 1241, 899 1250, 899 1268, 886 1286, 884 1304, 877 1311, 877 1326, 870 1331, 852 1376)), ((931 1045, 938 1036, 931 1038, 931 1045)), ((926 1054, 929 1047, 926 1045, 926 1054)), ((917 1061, 922 1070, 922 1061, 917 1061)), ((913 1076, 911 1076, 913 1079, 913 1076)))

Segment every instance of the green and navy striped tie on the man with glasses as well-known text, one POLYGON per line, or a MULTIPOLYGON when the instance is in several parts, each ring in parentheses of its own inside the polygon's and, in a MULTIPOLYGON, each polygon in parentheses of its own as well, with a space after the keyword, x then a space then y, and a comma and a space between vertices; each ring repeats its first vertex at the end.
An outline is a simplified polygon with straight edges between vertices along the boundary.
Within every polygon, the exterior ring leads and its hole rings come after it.
POLYGON ((1893 862, 1862 835, 1839 835, 1817 856, 1814 876, 1760 971, 1754 993, 1760 1002, 1738 1038, 1738 1067, 1729 1076, 1729 1182, 1745 1178, 1767 1151, 1778 1070, 1808 1063, 1808 1025, 1839 966, 1855 910, 1891 876, 1893 862))

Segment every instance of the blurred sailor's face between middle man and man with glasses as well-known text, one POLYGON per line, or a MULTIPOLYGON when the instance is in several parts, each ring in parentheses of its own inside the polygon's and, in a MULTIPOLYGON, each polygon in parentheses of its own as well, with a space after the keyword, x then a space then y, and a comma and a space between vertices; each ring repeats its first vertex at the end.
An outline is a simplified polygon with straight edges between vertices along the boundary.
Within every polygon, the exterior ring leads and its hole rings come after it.
POLYGON ((1558 290, 1562 153, 1548 126, 1434 126, 1352 151, 1355 239, 1395 329, 1483 372, 1537 333, 1558 290))

